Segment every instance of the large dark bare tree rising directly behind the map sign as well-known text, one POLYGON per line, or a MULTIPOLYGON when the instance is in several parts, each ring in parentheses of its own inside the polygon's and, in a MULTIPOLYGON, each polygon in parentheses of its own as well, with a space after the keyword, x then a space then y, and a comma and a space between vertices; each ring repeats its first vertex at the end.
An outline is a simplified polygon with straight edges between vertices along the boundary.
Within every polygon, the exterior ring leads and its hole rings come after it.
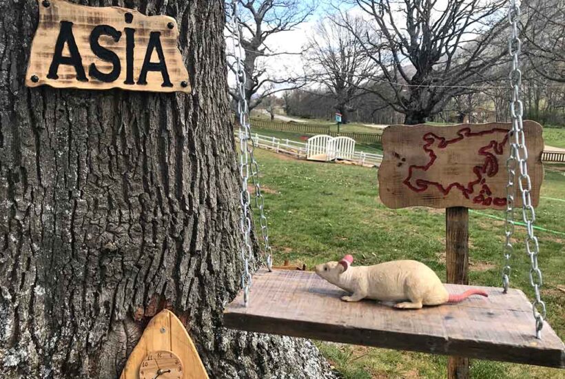
MULTIPOLYGON (((371 18, 364 34, 346 25, 379 68, 375 91, 404 123, 423 123, 453 96, 475 90, 506 50, 495 43, 506 26, 504 0, 355 0, 371 18)), ((502 46, 506 46, 504 43, 502 46)))

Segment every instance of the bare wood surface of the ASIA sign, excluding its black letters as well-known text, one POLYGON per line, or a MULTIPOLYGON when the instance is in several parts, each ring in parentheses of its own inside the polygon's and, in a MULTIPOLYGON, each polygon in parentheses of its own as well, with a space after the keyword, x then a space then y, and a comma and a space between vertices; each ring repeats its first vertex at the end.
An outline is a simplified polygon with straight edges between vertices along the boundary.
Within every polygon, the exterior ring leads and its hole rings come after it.
MULTIPOLYGON (((25 85, 37 87, 50 85, 54 88, 81 88, 88 90, 108 90, 110 88, 123 88, 133 91, 151 92, 190 92, 190 81, 187 69, 183 63, 181 52, 177 48, 178 26, 175 19, 167 16, 147 17, 136 10, 119 7, 94 8, 79 6, 63 0, 50 0, 48 7, 39 2, 39 25, 32 42, 28 71, 25 76, 25 85), (126 17, 131 22, 126 22, 126 17), (61 21, 70 21, 72 33, 81 55, 82 66, 88 81, 79 81, 76 78, 76 69, 72 65, 61 64, 57 74, 59 79, 49 79, 48 72, 52 63, 55 45, 61 28, 61 21), (99 43, 103 48, 111 50, 119 57, 121 62, 120 74, 116 80, 106 83, 89 75, 91 63, 103 73, 112 71, 114 67, 110 61, 97 57, 90 48, 90 34, 97 25, 110 25, 121 32, 119 41, 112 37, 102 35, 99 43), (172 25, 172 28, 169 28, 172 25), (134 32, 134 84, 125 84, 126 69, 126 33, 125 28, 132 28, 134 32), (147 51, 147 43, 151 32, 160 32, 160 41, 163 55, 167 65, 172 87, 163 86, 161 72, 150 71, 147 73, 147 84, 138 84, 141 68, 147 51), (33 79, 36 79, 35 81, 33 79), (184 83, 183 83, 184 82, 184 83), (185 85, 185 86, 183 86, 185 85)), ((63 57, 70 57, 68 43, 63 48, 63 57)), ((150 62, 158 62, 158 55, 153 51, 150 62)))

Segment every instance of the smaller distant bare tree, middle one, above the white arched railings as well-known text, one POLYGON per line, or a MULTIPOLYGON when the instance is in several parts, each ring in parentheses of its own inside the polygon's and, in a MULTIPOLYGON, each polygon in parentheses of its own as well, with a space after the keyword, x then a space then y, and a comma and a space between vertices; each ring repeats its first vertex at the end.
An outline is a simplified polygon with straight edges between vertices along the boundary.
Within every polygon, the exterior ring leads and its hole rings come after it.
POLYGON ((366 22, 360 17, 345 17, 354 32, 331 17, 320 21, 309 37, 305 55, 309 82, 329 91, 334 107, 342 114, 342 123, 347 123, 349 112, 355 110, 353 101, 365 92, 361 84, 376 72, 376 65, 355 37, 364 34, 366 22))

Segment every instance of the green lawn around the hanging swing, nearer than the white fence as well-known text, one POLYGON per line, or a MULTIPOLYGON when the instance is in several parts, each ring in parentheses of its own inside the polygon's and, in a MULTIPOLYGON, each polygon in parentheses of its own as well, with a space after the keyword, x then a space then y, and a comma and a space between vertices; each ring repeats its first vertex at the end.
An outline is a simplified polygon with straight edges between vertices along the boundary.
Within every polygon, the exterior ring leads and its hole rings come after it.
MULTIPOLYGON (((387 209, 378 198, 377 170, 366 167, 296 161, 257 150, 269 218, 269 234, 277 264, 289 259, 312 267, 352 254, 358 265, 416 259, 445 280, 445 221, 438 209, 387 209)), ((537 225, 542 298, 548 321, 565 338, 565 166, 547 166, 537 225), (551 198, 551 199, 550 199, 551 198), (552 200, 557 199, 557 200, 552 200), (562 199, 562 200, 559 200, 562 199)), ((481 212, 486 213, 486 212, 481 212)), ((503 212, 491 212, 504 217, 503 212)), ((470 218, 470 280, 499 286, 504 226, 483 214, 470 218)), ((517 227, 523 240, 524 229, 517 227)), ((529 260, 515 243, 511 285, 528 296, 529 260)), ((533 331, 533 329, 532 329, 533 331)), ((445 378, 446 357, 316 342, 343 378, 445 378)), ((472 360, 473 378, 565 378, 565 371, 486 360, 472 360)))

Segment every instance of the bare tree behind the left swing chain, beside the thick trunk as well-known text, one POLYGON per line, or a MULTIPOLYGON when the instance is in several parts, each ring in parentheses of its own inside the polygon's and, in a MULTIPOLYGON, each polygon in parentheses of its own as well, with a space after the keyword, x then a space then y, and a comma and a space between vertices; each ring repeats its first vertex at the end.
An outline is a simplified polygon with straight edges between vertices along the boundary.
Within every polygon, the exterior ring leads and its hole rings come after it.
MULTIPOLYGON (((276 92, 298 88, 304 82, 300 74, 283 72, 269 68, 269 58, 293 52, 280 52, 269 48, 267 39, 271 35, 294 30, 316 9, 316 0, 238 0, 238 25, 242 34, 241 48, 245 54, 243 68, 246 74, 245 98, 249 110, 263 102, 263 99, 276 92)), ((232 14, 228 9, 226 30, 234 35, 238 30, 232 27, 232 14)), ((233 52, 228 52, 229 70, 238 78, 233 52)), ((233 99, 238 99, 234 88, 229 89, 233 99)))

